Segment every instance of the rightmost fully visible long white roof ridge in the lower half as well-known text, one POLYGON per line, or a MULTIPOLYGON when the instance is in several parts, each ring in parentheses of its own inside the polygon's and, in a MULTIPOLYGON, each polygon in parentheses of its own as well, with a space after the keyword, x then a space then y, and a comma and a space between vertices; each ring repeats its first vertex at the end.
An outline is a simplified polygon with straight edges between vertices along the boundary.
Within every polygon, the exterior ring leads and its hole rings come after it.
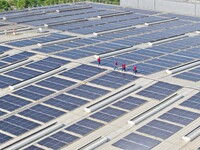
POLYGON ((163 110, 164 108, 168 107, 169 105, 173 104, 174 102, 178 101, 179 99, 183 98, 184 96, 175 94, 170 98, 166 99, 162 103, 150 108, 149 110, 145 111, 144 113, 136 116, 135 118, 128 121, 131 125, 137 125, 138 123, 144 121, 145 119, 151 117, 152 115, 156 114, 157 112, 163 110))

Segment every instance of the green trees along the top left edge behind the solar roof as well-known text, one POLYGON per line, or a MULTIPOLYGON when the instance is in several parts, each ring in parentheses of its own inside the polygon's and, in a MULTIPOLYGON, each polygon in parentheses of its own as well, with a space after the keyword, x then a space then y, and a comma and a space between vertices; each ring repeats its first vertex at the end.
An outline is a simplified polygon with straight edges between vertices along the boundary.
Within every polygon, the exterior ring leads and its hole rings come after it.
MULTIPOLYGON (((77 2, 77 1, 84 1, 84 0, 0 0, 0 11, 31 8, 37 6, 48 6, 48 5, 63 4, 63 3, 77 2)), ((111 3, 111 4, 119 3, 119 0, 91 0, 91 1, 111 3)))

